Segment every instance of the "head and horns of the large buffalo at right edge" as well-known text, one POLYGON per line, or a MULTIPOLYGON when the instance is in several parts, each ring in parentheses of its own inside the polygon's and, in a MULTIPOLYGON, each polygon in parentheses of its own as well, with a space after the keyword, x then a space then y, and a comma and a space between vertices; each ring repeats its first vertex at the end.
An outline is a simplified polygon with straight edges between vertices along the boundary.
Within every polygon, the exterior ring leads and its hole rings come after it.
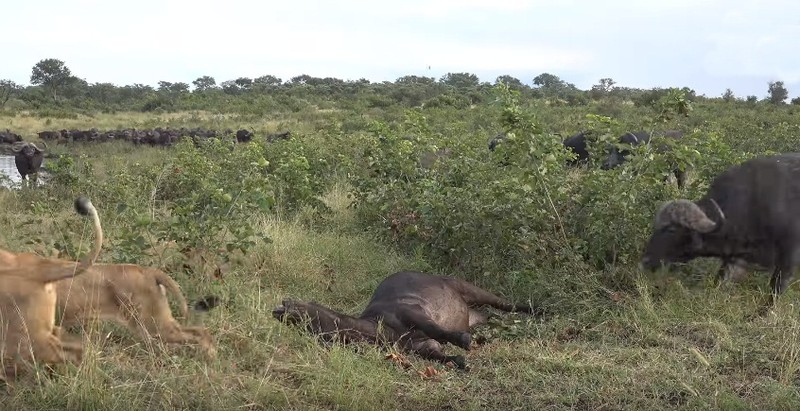
POLYGON ((676 263, 698 257, 703 250, 703 234, 717 230, 725 220, 717 202, 711 199, 711 203, 719 214, 719 223, 692 201, 681 199, 664 204, 656 214, 654 232, 642 255, 642 268, 673 268, 676 263))

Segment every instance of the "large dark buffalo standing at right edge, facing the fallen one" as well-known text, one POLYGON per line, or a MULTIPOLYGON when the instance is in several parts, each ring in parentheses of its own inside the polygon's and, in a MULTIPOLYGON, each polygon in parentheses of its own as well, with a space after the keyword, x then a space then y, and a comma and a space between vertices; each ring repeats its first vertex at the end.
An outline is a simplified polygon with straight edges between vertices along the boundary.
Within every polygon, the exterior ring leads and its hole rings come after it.
POLYGON ((655 270, 718 257, 718 276, 745 264, 772 270, 772 297, 800 262, 800 153, 759 157, 730 167, 697 200, 674 200, 656 214, 641 264, 655 270))

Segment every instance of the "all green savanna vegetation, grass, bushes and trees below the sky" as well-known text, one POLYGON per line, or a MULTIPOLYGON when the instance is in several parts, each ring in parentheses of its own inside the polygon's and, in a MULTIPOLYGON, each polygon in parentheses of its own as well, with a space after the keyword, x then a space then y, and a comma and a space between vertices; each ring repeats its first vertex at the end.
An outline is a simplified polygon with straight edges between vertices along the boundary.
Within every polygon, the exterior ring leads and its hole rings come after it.
POLYGON ((215 360, 102 324, 79 367, 9 386, 3 409, 800 406, 796 290, 759 316, 764 273, 715 286, 713 260, 673 273, 637 268, 663 201, 699 197, 745 159, 796 150, 797 106, 775 96, 782 84, 764 101, 610 79, 582 91, 546 73, 533 86, 468 73, 378 84, 264 76, 221 87, 200 78, 190 92, 185 83, 87 84, 63 63, 41 68, 62 76, 34 70, 33 86, 0 98, 0 129, 29 141, 42 130, 155 126, 249 128, 256 138, 51 144, 46 184, 0 193, 5 249, 82 256, 89 229, 71 211, 82 194, 103 220, 101 261, 162 267, 189 299, 223 300, 190 318, 211 329, 215 360), (589 128, 598 154, 625 131, 686 136, 667 152, 637 147, 612 170, 600 170, 600 155, 566 166, 562 138, 589 128), (279 129, 292 138, 258 138, 279 129), (490 152, 500 131, 508 138, 490 152), (663 181, 674 166, 689 171, 682 189, 663 181), (467 371, 325 347, 270 314, 289 296, 357 314, 401 269, 458 276, 547 314, 481 326, 487 342, 467 354, 467 371))

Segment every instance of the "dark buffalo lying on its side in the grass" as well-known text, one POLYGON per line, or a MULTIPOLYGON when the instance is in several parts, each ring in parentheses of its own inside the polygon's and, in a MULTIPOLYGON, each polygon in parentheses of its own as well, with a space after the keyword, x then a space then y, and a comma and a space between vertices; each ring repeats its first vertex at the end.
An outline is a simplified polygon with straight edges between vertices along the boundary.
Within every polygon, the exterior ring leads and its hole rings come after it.
POLYGON ((464 368, 464 357, 445 355, 442 345, 470 349, 470 327, 486 321, 484 314, 472 309, 481 305, 534 313, 528 305, 511 304, 463 280, 401 271, 378 285, 359 317, 337 313, 313 301, 293 300, 284 300, 272 315, 290 324, 307 324, 309 332, 328 342, 398 343, 404 351, 442 363, 452 361, 464 368))

